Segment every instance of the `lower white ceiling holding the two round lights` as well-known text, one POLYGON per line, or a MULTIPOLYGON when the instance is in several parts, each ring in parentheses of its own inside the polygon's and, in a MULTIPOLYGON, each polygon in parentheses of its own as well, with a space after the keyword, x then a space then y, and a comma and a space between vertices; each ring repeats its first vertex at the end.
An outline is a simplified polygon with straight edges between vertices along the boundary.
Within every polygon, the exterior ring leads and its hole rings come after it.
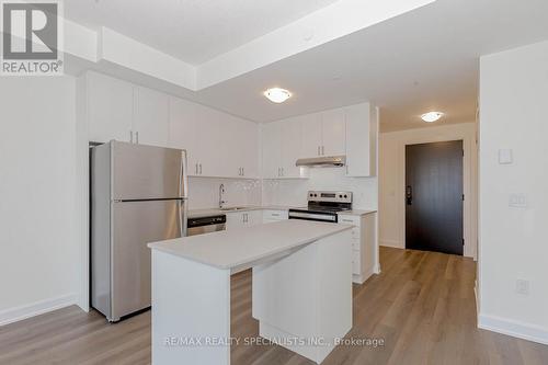
POLYGON ((433 110, 446 113, 441 123, 473 122, 479 57, 543 39, 546 0, 439 0, 198 95, 259 122, 367 100, 385 132, 424 127, 419 116, 433 110), (295 96, 270 103, 261 92, 273 85, 295 96))

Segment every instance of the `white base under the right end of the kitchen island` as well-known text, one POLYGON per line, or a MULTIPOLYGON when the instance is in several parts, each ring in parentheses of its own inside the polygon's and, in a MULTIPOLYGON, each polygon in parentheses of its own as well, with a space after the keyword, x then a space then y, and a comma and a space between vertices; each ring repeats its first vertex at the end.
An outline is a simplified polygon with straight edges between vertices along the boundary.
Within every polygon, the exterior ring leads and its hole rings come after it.
POLYGON ((281 345, 321 363, 334 349, 333 339, 352 328, 351 231, 253 267, 252 295, 261 337, 286 339, 281 345), (330 344, 313 343, 319 339, 330 344))

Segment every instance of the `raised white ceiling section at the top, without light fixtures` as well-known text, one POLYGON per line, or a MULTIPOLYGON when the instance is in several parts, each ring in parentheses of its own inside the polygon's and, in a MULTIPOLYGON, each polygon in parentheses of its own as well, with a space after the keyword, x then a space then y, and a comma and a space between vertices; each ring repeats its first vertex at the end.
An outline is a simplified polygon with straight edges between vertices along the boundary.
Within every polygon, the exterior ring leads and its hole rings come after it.
POLYGON ((335 1, 70 0, 65 15, 198 65, 335 1))

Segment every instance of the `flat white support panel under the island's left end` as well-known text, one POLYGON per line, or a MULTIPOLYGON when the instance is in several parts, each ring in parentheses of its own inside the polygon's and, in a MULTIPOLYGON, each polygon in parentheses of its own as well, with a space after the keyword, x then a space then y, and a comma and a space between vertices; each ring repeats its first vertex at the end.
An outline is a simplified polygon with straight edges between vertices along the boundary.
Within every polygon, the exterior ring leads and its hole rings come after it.
POLYGON ((230 364, 230 271, 152 249, 152 364, 230 364))

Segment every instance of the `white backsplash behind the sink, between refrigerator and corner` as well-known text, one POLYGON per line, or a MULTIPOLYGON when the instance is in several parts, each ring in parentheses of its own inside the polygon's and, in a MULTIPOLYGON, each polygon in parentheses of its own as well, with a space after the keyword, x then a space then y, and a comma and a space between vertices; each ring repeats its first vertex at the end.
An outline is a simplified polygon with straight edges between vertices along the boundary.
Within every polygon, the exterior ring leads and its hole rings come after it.
POLYGON ((225 185, 226 206, 261 205, 261 181, 214 178, 189 178, 189 208, 216 208, 219 185, 225 185))

